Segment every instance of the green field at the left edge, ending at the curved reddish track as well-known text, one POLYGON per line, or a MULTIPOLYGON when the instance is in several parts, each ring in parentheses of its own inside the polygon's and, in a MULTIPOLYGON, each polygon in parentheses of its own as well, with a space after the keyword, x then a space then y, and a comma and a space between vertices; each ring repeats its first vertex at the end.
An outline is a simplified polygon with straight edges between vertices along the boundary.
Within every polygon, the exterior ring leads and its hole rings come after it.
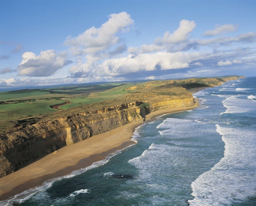
POLYGON ((0 104, 0 121, 16 120, 30 116, 41 116, 56 112, 50 106, 62 104, 62 100, 38 100, 36 102, 21 102, 17 104, 0 104))

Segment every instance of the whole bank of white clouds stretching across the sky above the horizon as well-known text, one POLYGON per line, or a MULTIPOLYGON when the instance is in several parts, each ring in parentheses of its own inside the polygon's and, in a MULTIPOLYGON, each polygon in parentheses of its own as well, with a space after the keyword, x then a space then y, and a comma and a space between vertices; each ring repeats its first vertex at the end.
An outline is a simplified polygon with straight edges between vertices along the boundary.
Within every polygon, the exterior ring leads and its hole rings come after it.
MULTIPOLYGON (((174 32, 165 32, 161 37, 156 37, 152 44, 137 47, 130 45, 127 48, 129 39, 128 43, 124 42, 121 33, 128 31, 133 23, 130 15, 121 12, 110 15, 108 21, 99 28, 91 27, 76 37, 67 37, 65 44, 69 46, 69 52, 75 55, 73 59, 76 61, 71 68, 61 70, 70 63, 67 61, 67 52, 46 50, 39 55, 25 52, 17 67, 19 76, 0 80, 0 85, 18 87, 210 76, 224 74, 228 70, 233 73, 235 67, 244 68, 245 65, 256 63, 254 32, 237 36, 192 39, 190 33, 195 29, 195 22, 181 20, 174 32), (220 67, 231 64, 232 67, 226 67, 225 71, 220 67), (66 77, 68 69, 70 76, 66 77), (66 78, 60 78, 60 73, 66 78), (50 75, 52 76, 49 77, 50 75)), ((232 28, 235 26, 222 25, 207 32, 208 35, 218 35, 230 32, 232 28)), ((21 49, 22 46, 18 46, 13 52, 19 52, 21 49)), ((11 56, 0 55, 0 60, 6 58, 11 56)), ((1 69, 0 73, 12 71, 15 70, 5 68, 1 69)))

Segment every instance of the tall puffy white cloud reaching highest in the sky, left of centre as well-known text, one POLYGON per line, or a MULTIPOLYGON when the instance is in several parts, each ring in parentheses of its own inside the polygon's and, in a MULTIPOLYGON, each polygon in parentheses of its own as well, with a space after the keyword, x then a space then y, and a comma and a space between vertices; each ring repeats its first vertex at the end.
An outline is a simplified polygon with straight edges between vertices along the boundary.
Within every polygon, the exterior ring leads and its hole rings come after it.
POLYGON ((93 26, 77 37, 67 37, 65 44, 71 46, 70 51, 74 55, 96 54, 119 44, 121 40, 117 34, 128 31, 133 23, 134 20, 126 12, 111 14, 101 27, 93 26))

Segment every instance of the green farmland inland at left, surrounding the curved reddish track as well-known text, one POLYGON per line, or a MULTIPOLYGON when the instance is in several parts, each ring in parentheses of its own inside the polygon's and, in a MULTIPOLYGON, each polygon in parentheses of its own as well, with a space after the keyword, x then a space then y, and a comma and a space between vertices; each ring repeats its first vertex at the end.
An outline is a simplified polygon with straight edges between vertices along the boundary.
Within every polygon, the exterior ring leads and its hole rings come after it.
POLYGON ((63 104, 70 101, 70 104, 60 106, 60 109, 70 109, 84 104, 93 104, 107 99, 118 98, 115 92, 111 94, 102 93, 119 87, 123 83, 92 84, 69 87, 53 87, 47 89, 26 89, 9 92, 0 92, 0 121, 10 121, 29 117, 38 117, 58 110, 50 106, 63 104), (99 92, 96 97, 89 96, 99 92))

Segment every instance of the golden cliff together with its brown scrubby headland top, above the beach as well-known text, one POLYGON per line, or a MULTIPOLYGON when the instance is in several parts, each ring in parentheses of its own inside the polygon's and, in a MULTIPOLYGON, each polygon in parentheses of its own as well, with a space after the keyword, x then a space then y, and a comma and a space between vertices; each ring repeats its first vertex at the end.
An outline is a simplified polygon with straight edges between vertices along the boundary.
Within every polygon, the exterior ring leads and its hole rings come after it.
MULTIPOLYGON (((234 79, 234 78, 231 78, 234 79)), ((230 80, 229 79, 226 79, 230 80)), ((145 115, 166 108, 183 108, 194 105, 194 99, 183 85, 202 86, 201 80, 173 81, 159 84, 150 82, 129 87, 127 96, 112 102, 96 103, 91 110, 88 105, 73 110, 60 111, 46 118, 29 118, 10 121, 12 129, 0 134, 0 177, 6 176, 65 145, 82 141, 90 136, 105 133, 130 122, 143 122, 145 115), (140 99, 140 101, 134 101, 140 99), (130 103, 123 103, 128 101, 130 103), (115 103, 120 103, 115 105, 115 103), (102 105, 115 105, 102 107, 102 105), (98 108, 98 109, 96 109, 98 108), (101 109, 99 109, 101 108, 101 109), (68 115, 64 115, 69 113, 68 115)), ((210 79, 212 81, 212 79, 210 79)), ((215 85, 223 83, 217 79, 215 85)), ((207 85, 212 86, 210 84, 207 85)))

